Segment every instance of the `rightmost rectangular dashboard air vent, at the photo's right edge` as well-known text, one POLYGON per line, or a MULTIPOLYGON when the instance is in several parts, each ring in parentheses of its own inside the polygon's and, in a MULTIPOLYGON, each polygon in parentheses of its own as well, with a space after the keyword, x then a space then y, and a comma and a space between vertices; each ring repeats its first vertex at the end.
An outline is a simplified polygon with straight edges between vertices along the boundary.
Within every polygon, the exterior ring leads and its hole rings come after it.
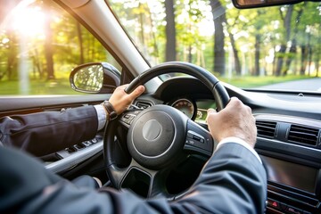
POLYGON ((289 131, 288 141, 300 144, 317 145, 319 129, 292 125, 289 131))

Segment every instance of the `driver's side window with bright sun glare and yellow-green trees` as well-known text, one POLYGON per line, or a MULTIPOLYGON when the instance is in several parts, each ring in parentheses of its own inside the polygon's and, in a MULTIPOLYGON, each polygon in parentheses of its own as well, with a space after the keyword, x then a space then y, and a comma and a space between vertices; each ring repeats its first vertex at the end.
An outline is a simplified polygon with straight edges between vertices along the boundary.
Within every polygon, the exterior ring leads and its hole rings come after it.
POLYGON ((0 95, 74 95, 70 71, 111 53, 53 1, 21 1, 0 16, 0 95))

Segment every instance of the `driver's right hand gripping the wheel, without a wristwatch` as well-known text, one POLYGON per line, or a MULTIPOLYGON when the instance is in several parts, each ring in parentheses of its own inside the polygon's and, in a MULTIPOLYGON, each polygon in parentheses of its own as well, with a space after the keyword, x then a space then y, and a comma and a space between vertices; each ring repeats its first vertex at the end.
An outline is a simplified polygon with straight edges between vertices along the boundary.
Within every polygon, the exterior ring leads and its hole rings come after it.
POLYGON ((232 97, 226 108, 217 112, 208 110, 207 122, 210 134, 218 142, 229 136, 236 136, 254 147, 257 128, 251 108, 236 97, 232 97))

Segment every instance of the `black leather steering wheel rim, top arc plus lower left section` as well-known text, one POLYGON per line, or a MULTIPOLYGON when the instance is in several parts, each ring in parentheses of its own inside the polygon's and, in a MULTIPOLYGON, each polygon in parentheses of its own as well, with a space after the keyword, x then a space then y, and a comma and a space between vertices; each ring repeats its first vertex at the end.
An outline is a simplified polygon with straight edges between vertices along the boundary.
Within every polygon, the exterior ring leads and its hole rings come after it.
MULTIPOLYGON (((202 83, 207 86, 211 91, 217 103, 218 111, 222 110, 229 102, 229 95, 226 92, 224 86, 222 86, 218 78, 212 75, 208 70, 204 70, 199 66, 193 65, 187 62, 165 62, 158 66, 152 67, 149 70, 144 71, 141 75, 133 79, 133 81, 125 89, 125 92, 132 92, 136 86, 144 85, 147 81, 155 78, 161 74, 167 74, 172 72, 181 72, 198 78, 202 83)), ((118 158, 115 152, 117 146, 114 142, 114 136, 116 134, 118 119, 108 122, 105 126, 103 136, 103 154, 106 166, 106 172, 111 180, 111 183, 118 189, 122 183, 122 176, 128 168, 121 169, 118 165, 118 158)))

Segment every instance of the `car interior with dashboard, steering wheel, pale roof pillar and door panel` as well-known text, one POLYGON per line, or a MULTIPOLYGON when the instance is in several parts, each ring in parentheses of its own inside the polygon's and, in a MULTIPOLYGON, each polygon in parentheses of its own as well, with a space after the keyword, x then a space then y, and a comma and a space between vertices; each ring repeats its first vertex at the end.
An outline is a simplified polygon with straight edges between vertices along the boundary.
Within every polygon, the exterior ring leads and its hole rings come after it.
MULTIPOLYGON (((117 65, 93 62, 74 68, 70 72, 70 88, 87 95, 0 96, 0 117, 100 104, 109 99, 116 86, 122 84, 129 84, 128 91, 144 84, 146 91, 128 111, 100 130, 94 139, 76 142, 62 151, 37 157, 44 162, 46 169, 67 179, 86 174, 99 177, 105 186, 130 188, 143 197, 163 193, 169 200, 175 200, 193 185, 217 145, 207 128, 207 110, 214 108, 219 111, 230 97, 235 96, 251 107, 256 119, 258 136, 255 150, 268 174, 267 213, 321 213, 319 92, 243 89, 219 81, 219 77, 209 76, 207 70, 185 62, 150 66, 106 2, 54 2, 85 26, 111 53, 117 65), (93 75, 81 76, 81 72, 93 70, 93 75), (174 77, 173 73, 187 75, 174 77), (95 75, 101 79, 99 84, 87 84, 88 77, 94 78, 95 75), (160 75, 166 78, 158 78, 160 75), (132 138, 136 139, 135 142, 141 141, 138 132, 143 128, 138 125, 145 117, 168 124, 163 113, 153 113, 160 109, 176 120, 175 126, 180 127, 184 123, 183 134, 175 136, 177 141, 183 142, 180 143, 184 147, 183 152, 171 149, 174 156, 184 156, 179 161, 172 156, 165 160, 145 161, 135 152, 128 152, 135 150, 131 148, 133 144, 147 153, 153 151, 145 148, 144 144, 130 142, 132 138), (166 170, 162 170, 163 166, 166 170), (157 188, 152 188, 155 183, 157 188)), ((251 4, 238 0, 233 2, 236 7, 244 9, 299 1, 259 1, 259 5, 255 4, 256 1, 249 1, 253 2, 251 4)), ((151 124, 153 130, 157 129, 155 126, 151 124)))

